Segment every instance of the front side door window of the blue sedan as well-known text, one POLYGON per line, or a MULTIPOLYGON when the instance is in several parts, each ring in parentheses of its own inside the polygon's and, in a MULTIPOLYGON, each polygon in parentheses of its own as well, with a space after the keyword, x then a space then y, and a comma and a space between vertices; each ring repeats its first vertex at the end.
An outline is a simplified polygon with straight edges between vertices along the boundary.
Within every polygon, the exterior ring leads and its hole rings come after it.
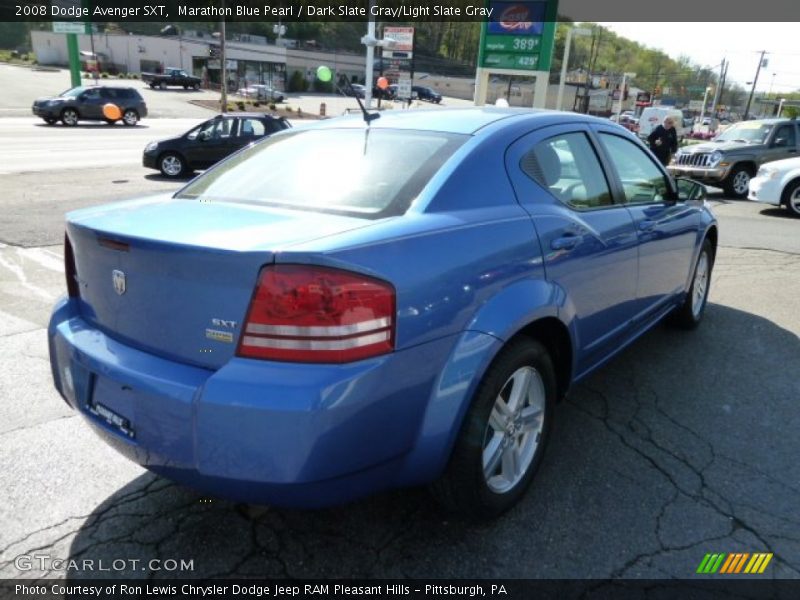
POLYGON ((610 133, 600 133, 600 139, 622 181, 626 202, 647 204, 667 199, 667 178, 644 149, 610 133))

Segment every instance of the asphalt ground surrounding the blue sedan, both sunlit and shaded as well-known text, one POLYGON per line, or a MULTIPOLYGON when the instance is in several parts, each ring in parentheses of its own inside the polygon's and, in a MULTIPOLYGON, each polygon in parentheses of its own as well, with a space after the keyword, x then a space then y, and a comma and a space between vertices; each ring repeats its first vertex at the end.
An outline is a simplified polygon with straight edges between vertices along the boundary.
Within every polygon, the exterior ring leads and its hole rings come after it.
POLYGON ((50 383, 63 213, 176 189, 140 152, 188 120, 0 116, 0 577, 689 578, 708 552, 772 552, 765 577, 800 577, 800 219, 714 190, 706 320, 656 328, 573 389, 534 486, 495 522, 453 519, 425 490, 315 512, 233 504, 115 454, 50 383), (124 563, 54 566, 73 558, 124 563))

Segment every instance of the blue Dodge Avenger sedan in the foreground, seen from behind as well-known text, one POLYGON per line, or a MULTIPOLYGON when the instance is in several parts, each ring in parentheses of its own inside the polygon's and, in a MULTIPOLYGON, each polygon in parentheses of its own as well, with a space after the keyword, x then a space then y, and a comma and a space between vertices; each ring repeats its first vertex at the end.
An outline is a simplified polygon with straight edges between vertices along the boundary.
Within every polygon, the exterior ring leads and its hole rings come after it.
POLYGON ((173 196, 67 215, 55 386, 164 477, 295 507, 531 483, 570 386, 706 306, 717 223, 628 131, 392 111, 280 132, 173 196))

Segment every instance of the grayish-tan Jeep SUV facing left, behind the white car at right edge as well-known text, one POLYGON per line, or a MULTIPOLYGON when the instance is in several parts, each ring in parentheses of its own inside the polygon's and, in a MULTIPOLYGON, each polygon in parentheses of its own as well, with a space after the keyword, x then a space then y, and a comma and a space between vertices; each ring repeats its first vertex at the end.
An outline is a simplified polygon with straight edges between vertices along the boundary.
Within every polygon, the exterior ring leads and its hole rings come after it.
POLYGON ((796 156, 798 141, 800 132, 793 119, 740 121, 708 143, 681 148, 669 170, 721 187, 730 197, 744 198, 759 167, 796 156))

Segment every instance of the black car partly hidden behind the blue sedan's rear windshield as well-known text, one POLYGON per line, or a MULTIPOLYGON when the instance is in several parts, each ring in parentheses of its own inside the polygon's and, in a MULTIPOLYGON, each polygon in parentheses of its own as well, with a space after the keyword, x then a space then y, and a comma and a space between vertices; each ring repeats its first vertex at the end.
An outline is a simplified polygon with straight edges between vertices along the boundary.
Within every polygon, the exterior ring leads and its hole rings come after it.
POLYGON ((263 113, 217 115, 183 135, 150 142, 142 164, 166 177, 181 177, 207 169, 240 148, 289 128, 283 117, 263 113))

